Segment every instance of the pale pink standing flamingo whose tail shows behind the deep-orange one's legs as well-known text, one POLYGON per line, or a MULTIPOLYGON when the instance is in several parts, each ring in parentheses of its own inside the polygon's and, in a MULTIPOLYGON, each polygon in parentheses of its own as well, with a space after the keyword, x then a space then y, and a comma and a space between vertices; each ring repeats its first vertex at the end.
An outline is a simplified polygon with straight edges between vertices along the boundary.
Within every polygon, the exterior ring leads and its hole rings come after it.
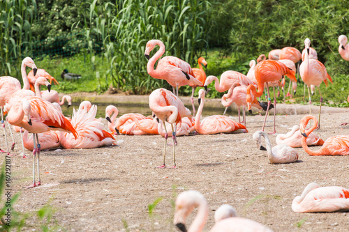
MULTIPOLYGON (((241 123, 240 107, 242 107, 242 110, 243 110, 242 112, 244 117, 243 121, 245 126, 246 126, 245 107, 247 107, 246 95, 247 95, 247 86, 240 86, 239 83, 235 83, 229 88, 228 93, 223 95, 221 99, 222 105, 223 107, 225 107, 225 109, 228 109, 228 107, 230 107, 230 105, 232 105, 233 102, 237 105, 237 112, 239 114, 239 123, 241 123)), ((257 107, 258 109, 262 110, 262 107, 260 107, 260 104, 257 98, 253 97, 251 104, 253 105, 253 107, 257 107)), ((223 115, 225 115, 225 111, 223 115)))

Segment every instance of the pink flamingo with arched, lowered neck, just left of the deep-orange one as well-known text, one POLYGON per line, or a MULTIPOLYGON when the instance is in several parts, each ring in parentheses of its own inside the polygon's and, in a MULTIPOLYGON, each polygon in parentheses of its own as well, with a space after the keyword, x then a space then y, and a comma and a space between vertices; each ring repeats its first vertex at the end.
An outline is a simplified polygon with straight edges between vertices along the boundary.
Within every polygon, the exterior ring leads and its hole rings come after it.
POLYGON ((214 81, 214 88, 216 91, 222 93, 228 91, 228 89, 235 83, 239 82, 241 85, 248 86, 250 84, 255 84, 248 79, 245 75, 240 72, 235 71, 225 71, 221 75, 221 80, 218 83, 218 78, 215 76, 208 76, 205 81, 205 90, 207 91, 207 86, 214 81))

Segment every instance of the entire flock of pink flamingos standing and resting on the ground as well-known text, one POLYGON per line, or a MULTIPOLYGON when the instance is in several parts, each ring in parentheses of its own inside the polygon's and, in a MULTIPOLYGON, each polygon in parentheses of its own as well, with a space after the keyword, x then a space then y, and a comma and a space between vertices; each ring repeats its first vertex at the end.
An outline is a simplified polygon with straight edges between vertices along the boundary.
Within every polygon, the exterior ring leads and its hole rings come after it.
MULTIPOLYGON (((297 79, 295 77, 296 63, 302 59, 299 65, 299 75, 306 84, 309 92, 309 105, 311 114, 311 94, 314 93, 315 86, 320 86, 322 82, 328 84, 332 78, 327 74, 325 65, 317 60, 315 49, 310 47, 309 38, 304 40, 305 48, 302 54, 294 47, 284 47, 269 52, 269 59, 262 54, 258 57, 256 63, 250 62, 251 69, 248 74, 242 75, 235 71, 226 71, 221 75, 218 81, 217 77, 206 77, 202 65, 207 66, 205 59, 200 57, 198 60, 200 68, 191 68, 191 66, 174 56, 161 56, 165 52, 165 45, 160 40, 149 40, 145 47, 144 55, 149 59, 147 63, 147 72, 156 79, 165 79, 172 87, 173 93, 165 88, 158 88, 149 95, 149 107, 153 111, 153 118, 148 118, 142 114, 125 114, 117 118, 117 107, 112 105, 105 109, 105 118, 108 121, 110 132, 103 130, 101 118, 96 118, 96 105, 84 101, 79 109, 73 109, 71 118, 62 114, 60 105, 64 100, 71 105, 71 98, 65 95, 59 101, 57 91, 51 90, 51 82, 58 82, 50 76, 45 70, 36 68, 34 61, 27 57, 22 61, 23 88, 20 82, 13 77, 0 77, 0 107, 1 123, 5 133, 6 151, 10 155, 10 149, 15 146, 14 140, 11 148, 8 146, 8 138, 5 131, 5 121, 13 125, 16 132, 20 132, 22 137, 23 157, 25 156, 24 147, 33 150, 33 184, 28 188, 40 185, 39 157, 40 150, 48 148, 63 147, 70 148, 96 148, 99 146, 112 146, 115 143, 116 134, 161 134, 165 137, 165 146, 163 151, 163 164, 158 168, 165 168, 165 150, 168 134, 172 133, 173 140, 173 166, 176 168, 174 148, 177 144, 176 137, 180 135, 195 134, 217 134, 231 133, 235 130, 248 132, 246 129, 245 108, 251 112, 251 107, 265 109, 265 120, 262 130, 253 134, 258 148, 267 150, 269 161, 272 164, 296 162, 298 153, 295 148, 303 147, 309 155, 349 155, 349 135, 339 135, 327 139, 325 142, 313 131, 320 127, 320 113, 318 119, 314 116, 304 116, 300 125, 295 125, 291 132, 279 134, 276 137, 277 146, 271 147, 267 133, 264 132, 265 122, 268 111, 274 107, 274 132, 275 114, 276 114, 276 96, 274 91, 274 105, 269 94, 269 87, 284 88, 285 76, 290 79, 292 91, 288 87, 288 95, 295 94, 297 90, 297 79), (156 47, 160 48, 150 56, 150 52, 156 47), (156 68, 154 65, 158 61, 156 68), (27 75, 26 67, 32 70, 27 75), (47 82, 49 80, 50 82, 47 82), (205 102, 205 93, 207 86, 215 82, 216 91, 228 91, 222 98, 222 105, 228 107, 235 102, 238 109, 243 107, 243 122, 239 123, 232 118, 224 115, 214 115, 200 120, 202 109, 205 102), (47 91, 40 91, 40 86, 47 86, 47 91), (178 98, 178 88, 189 85, 193 87, 191 102, 193 105, 193 114, 184 107, 183 102, 178 98), (199 107, 195 116, 195 106, 193 104, 193 95, 195 88, 203 86, 198 92, 199 107), (309 90, 311 88, 311 90, 309 90), (258 98, 265 92, 267 103, 259 102, 258 98), (7 114, 7 116, 6 116, 7 114), (6 116, 6 120, 3 120, 6 116), (195 118, 194 118, 195 116, 195 118), (306 130, 309 121, 313 125, 306 130), (242 124, 244 123, 244 125, 242 124), (28 133, 32 135, 28 139, 28 133), (262 139, 265 138, 266 146, 262 146, 262 139), (321 146, 320 150, 313 151, 308 146, 321 146), (38 182, 36 182, 36 169, 38 182)), ((346 36, 339 36, 339 54, 349 61, 349 45, 346 36)), ((322 96, 320 88, 320 110, 322 96)), ((305 93, 305 89, 304 89, 305 93)), ((349 100, 349 98, 348 98, 349 100)), ((10 129, 10 125, 8 128, 10 129)), ((11 137, 13 132, 10 130, 11 137)), ((186 217, 193 208, 198 207, 198 214, 195 217, 188 231, 202 231, 205 225, 208 207, 207 201, 202 194, 196 191, 182 192, 177 197, 176 212, 174 215, 174 224, 181 230, 187 231, 185 226, 186 217)), ((349 190, 343 187, 320 187, 315 183, 310 183, 301 196, 295 197, 292 202, 292 210, 295 212, 334 212, 337 210, 349 210, 349 190)), ((211 231, 271 231, 267 227, 254 222, 251 219, 236 217, 234 208, 223 205, 216 210, 216 224, 211 231)))

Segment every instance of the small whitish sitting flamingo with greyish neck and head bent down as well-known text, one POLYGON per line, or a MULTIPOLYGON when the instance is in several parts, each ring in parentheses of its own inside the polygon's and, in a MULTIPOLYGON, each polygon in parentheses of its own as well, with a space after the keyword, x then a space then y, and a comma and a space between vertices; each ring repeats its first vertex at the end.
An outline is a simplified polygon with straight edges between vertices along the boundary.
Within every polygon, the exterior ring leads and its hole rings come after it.
POLYGON ((298 160, 298 152, 295 148, 291 148, 290 146, 285 144, 279 144, 272 148, 268 134, 262 132, 261 130, 258 130, 253 134, 253 140, 256 141, 257 147, 260 150, 267 150, 269 162, 271 162, 272 164, 288 164, 296 162, 298 160), (261 137, 265 138, 267 148, 261 145, 261 137))

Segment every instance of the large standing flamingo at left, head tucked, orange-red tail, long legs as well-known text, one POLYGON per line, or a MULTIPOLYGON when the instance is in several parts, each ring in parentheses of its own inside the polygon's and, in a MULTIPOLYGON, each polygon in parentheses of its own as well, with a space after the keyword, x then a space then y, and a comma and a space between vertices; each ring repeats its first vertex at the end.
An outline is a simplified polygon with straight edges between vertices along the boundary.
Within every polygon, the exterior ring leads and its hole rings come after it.
POLYGON ((35 134, 33 136, 33 185, 29 187, 36 187, 41 184, 39 170, 40 143, 37 134, 49 130, 64 130, 72 132, 77 137, 77 132, 63 114, 50 102, 42 98, 24 97, 18 99, 13 105, 6 104, 5 109, 8 111, 7 120, 10 124, 23 127, 28 132, 35 134), (38 183, 35 183, 35 160, 37 160, 38 183))

